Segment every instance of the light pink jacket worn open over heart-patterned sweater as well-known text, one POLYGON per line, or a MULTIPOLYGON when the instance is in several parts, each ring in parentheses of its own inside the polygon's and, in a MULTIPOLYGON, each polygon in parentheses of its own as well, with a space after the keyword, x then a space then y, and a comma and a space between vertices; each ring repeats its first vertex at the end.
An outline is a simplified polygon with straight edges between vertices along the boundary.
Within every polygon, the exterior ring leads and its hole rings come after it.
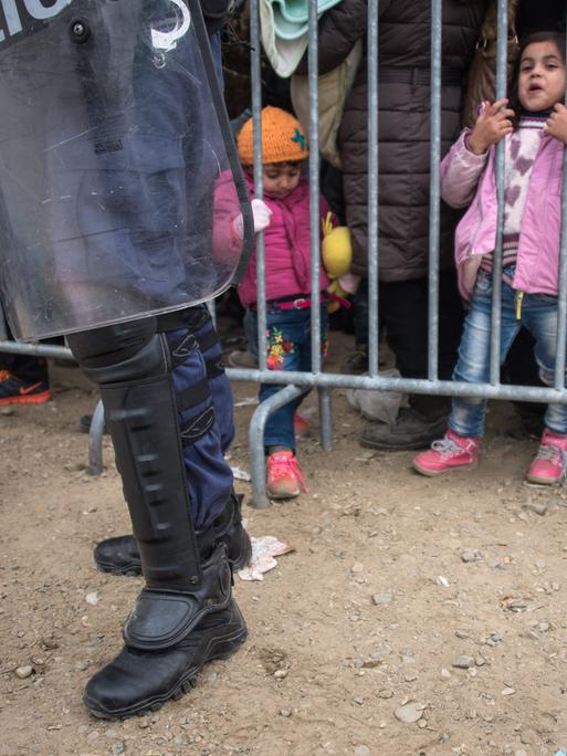
MULTIPOLYGON (((441 197, 453 208, 469 210, 456 227, 455 261, 459 290, 470 300, 483 254, 496 245, 497 200, 495 154, 466 149, 464 129, 441 162, 441 197)), ((510 138, 510 137, 506 137, 510 138)), ((528 294, 557 295, 561 231, 564 145, 542 134, 522 219, 513 287, 528 294)))

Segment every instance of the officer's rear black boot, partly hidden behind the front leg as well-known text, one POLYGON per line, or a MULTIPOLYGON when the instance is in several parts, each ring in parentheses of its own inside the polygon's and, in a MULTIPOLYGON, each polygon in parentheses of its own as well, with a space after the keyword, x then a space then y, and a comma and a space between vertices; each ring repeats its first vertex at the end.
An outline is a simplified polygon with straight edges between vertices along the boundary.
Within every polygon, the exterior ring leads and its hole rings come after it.
MULTIPOLYGON (((250 536, 242 525, 242 494, 233 492, 224 511, 211 525, 216 540, 227 544, 230 566, 237 573, 248 565, 252 556, 250 536)), ((102 540, 94 549, 94 560, 103 573, 141 575, 139 548, 133 535, 102 540)))

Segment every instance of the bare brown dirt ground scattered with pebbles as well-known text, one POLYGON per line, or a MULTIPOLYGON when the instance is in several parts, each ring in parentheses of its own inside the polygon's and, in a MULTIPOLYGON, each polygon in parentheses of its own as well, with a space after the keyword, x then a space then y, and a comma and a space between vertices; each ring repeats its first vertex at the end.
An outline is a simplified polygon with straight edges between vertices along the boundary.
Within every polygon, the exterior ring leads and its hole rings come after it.
MULTIPOLYGON (((242 650, 156 714, 92 718, 83 686, 119 650, 141 581, 94 567, 97 539, 127 532, 126 507, 107 437, 105 472, 85 471, 93 387, 73 368, 52 379, 49 405, 0 416, 1 756, 567 750, 567 493, 524 483, 536 441, 492 403, 480 470, 423 479, 411 453, 359 447, 364 420, 338 390, 332 453, 306 402, 311 493, 244 507, 252 535, 295 550, 262 582, 235 578, 242 650)), ((237 409, 231 464, 244 470, 253 409, 237 409)), ((250 501, 249 483, 237 490, 250 501)))

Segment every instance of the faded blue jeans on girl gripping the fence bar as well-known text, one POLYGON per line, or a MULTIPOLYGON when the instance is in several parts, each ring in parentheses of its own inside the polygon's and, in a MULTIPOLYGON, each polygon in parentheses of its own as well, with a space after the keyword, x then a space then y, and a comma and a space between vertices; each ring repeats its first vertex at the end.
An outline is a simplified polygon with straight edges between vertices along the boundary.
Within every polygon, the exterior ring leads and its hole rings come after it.
MULTIPOLYGON (((512 280, 514 269, 506 269, 512 280)), ((453 380, 484 384, 490 379, 491 294, 492 274, 480 272, 471 308, 464 322, 459 347, 459 361, 453 380)), ((501 365, 522 326, 535 339, 535 358, 539 377, 546 386, 555 379, 557 339, 557 297, 548 294, 524 294, 521 318, 516 318, 517 292, 502 283, 501 365)), ((486 400, 472 397, 453 399, 449 428, 460 435, 479 438, 484 434, 486 400)), ((567 405, 548 405, 545 424, 556 433, 567 434, 567 405)))

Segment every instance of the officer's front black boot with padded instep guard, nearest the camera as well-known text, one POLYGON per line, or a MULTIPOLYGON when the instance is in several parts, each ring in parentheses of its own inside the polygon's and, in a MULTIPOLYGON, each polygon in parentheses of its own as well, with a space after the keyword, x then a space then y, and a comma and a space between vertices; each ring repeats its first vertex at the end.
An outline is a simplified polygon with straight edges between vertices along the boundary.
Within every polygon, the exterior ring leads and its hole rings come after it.
POLYGON ((238 651, 248 631, 231 598, 225 548, 219 544, 202 565, 204 590, 140 594, 123 650, 86 685, 83 700, 91 714, 123 720, 155 712, 187 693, 208 661, 238 651))

